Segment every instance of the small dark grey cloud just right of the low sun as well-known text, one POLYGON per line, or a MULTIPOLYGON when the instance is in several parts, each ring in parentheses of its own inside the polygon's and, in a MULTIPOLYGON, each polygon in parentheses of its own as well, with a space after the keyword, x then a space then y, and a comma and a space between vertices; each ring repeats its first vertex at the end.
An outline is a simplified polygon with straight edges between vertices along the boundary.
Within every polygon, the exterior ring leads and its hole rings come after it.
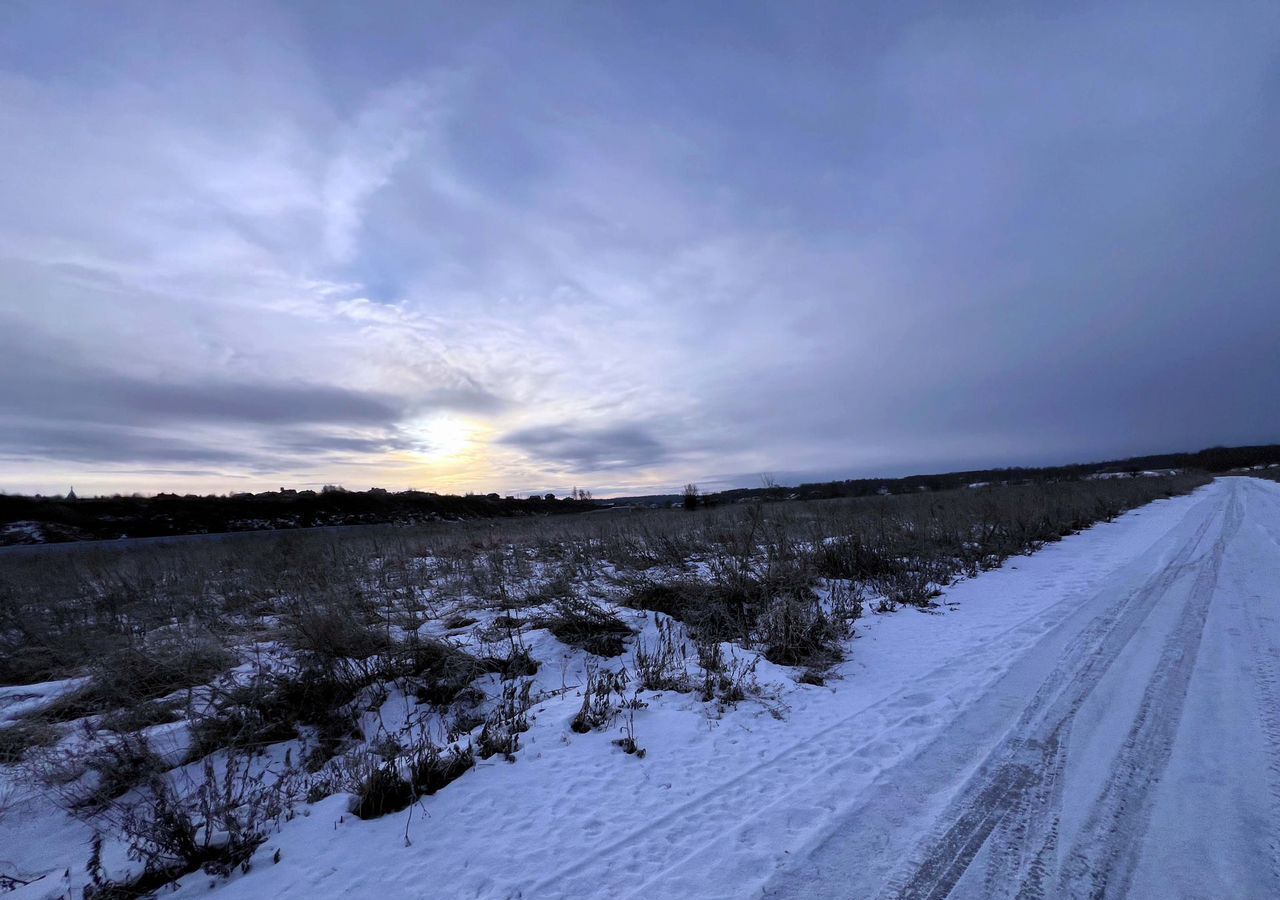
POLYGON ((498 443, 516 447, 541 465, 584 472, 644 469, 669 458, 662 442, 637 425, 602 429, 544 425, 512 431, 498 443))

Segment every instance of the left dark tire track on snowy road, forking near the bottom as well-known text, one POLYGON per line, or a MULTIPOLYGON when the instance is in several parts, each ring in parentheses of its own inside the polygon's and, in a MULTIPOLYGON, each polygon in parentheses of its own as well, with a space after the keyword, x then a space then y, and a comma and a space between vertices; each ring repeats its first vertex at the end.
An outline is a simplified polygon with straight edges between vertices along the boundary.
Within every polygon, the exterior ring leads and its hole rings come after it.
MULTIPOLYGON (((1056 849, 1057 822, 1052 810, 1061 790, 1071 721, 1156 603, 1202 562, 1203 558, 1194 558, 1196 550, 1217 518, 1206 516, 1151 579, 1071 641, 1010 736, 952 801, 943 824, 925 839, 923 856, 900 869, 881 896, 904 900, 947 896, 997 828, 1002 846, 995 849, 986 873, 987 895, 1043 894, 1056 849), (1025 851, 1029 845, 1034 846, 1030 854, 1025 851)), ((1208 556, 1213 556, 1212 550, 1208 556)), ((1184 615, 1196 621, 1194 612, 1184 615)))

